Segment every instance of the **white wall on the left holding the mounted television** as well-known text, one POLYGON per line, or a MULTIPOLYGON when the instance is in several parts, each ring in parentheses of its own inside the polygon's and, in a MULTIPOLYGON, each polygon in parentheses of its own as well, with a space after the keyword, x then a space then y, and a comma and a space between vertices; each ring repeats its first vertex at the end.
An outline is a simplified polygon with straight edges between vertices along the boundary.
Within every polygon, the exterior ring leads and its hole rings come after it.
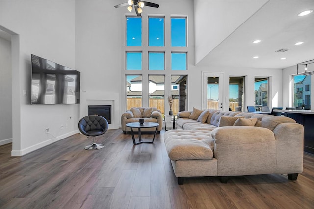
POLYGON ((0 25, 18 34, 12 36, 18 48, 12 57, 12 155, 19 156, 77 132, 79 105, 30 105, 31 54, 75 69, 75 0, 1 0, 0 25))

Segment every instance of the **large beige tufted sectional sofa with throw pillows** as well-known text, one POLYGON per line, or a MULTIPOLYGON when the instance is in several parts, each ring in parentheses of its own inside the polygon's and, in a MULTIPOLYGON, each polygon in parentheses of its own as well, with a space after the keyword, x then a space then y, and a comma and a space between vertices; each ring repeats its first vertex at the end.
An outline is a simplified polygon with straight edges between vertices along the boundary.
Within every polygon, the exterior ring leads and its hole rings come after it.
POLYGON ((288 174, 303 170, 303 126, 293 119, 207 109, 178 113, 164 142, 178 184, 184 177, 288 174))

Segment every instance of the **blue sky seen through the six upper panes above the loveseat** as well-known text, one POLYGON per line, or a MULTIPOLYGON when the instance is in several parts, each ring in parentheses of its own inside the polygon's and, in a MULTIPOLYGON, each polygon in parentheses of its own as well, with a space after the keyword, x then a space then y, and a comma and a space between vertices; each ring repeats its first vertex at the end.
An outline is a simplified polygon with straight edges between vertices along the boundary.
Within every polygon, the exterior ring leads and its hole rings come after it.
MULTIPOLYGON (((148 27, 149 46, 164 46, 164 18, 150 17, 148 27)), ((128 17, 126 28, 126 46, 142 46, 142 18, 128 17)), ((186 19, 171 18, 171 46, 186 46, 186 19)), ((165 59, 171 59, 172 70, 187 70, 186 53, 172 53, 171 56, 161 53, 149 54, 149 66, 142 66, 141 48, 138 52, 127 53, 127 70, 165 70, 165 59)))

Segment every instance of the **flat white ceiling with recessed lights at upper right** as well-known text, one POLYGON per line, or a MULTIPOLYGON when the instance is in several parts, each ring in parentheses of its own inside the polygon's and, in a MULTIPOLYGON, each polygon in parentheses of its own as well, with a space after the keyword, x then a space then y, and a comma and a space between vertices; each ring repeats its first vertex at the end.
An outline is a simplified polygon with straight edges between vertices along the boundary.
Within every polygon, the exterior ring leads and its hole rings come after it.
POLYGON ((307 9, 314 9, 314 0, 268 1, 197 65, 282 69, 314 59, 314 12, 297 16, 307 9))

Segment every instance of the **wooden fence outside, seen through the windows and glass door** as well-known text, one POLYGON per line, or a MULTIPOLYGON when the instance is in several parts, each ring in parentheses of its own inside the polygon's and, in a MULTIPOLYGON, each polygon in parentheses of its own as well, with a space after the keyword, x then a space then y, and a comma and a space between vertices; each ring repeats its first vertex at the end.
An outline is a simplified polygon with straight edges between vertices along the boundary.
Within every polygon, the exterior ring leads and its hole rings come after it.
MULTIPOLYGON (((167 107, 168 106, 168 101, 167 107)), ((158 110, 161 111, 162 114, 165 110, 165 100, 164 99, 149 99, 149 106, 150 107, 156 107, 158 110)), ((239 106, 238 102, 229 102, 229 107, 232 111, 235 111, 235 107, 239 106)), ((127 98, 127 110, 130 110, 131 107, 142 107, 142 98, 127 98)), ((207 107, 210 109, 219 109, 219 103, 217 101, 207 101, 207 107)), ((172 111, 173 114, 177 114, 179 111, 179 100, 174 99, 173 105, 172 105, 172 111)), ((167 115, 168 113, 166 113, 167 115)))

